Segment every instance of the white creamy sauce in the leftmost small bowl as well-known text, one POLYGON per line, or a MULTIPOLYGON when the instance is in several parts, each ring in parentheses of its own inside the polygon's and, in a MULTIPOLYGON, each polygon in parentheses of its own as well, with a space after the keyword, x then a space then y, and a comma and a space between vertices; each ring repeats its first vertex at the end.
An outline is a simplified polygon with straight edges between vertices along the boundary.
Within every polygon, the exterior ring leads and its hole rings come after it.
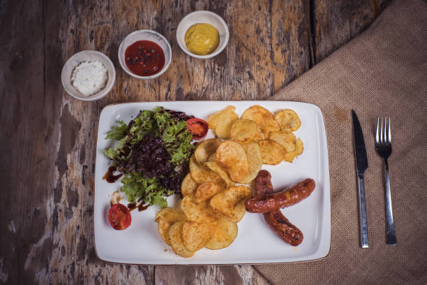
POLYGON ((83 61, 74 68, 71 76, 75 89, 86 96, 103 89, 107 78, 107 68, 99 61, 83 61))

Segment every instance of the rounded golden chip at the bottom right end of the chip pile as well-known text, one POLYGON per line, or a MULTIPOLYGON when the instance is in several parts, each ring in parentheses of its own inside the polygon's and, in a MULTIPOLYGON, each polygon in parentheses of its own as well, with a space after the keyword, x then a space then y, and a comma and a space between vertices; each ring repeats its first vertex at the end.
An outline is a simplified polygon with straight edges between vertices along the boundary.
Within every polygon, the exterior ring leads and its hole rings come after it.
POLYGON ((223 249, 228 247, 237 237, 237 223, 225 219, 225 217, 218 217, 218 224, 216 225, 213 237, 204 246, 207 249, 223 249))

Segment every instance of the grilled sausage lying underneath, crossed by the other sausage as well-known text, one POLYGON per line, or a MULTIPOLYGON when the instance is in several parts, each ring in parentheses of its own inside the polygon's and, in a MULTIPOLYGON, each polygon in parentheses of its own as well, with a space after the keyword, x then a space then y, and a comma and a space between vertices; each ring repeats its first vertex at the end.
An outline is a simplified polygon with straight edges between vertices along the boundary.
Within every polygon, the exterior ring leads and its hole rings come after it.
MULTIPOLYGON (((273 193, 271 184, 271 174, 267 170, 260 170, 255 178, 255 195, 263 198, 269 193, 273 193)), ((264 219, 270 226, 271 230, 278 235, 287 244, 294 247, 301 244, 304 239, 303 233, 290 223, 280 210, 264 213, 264 219)))

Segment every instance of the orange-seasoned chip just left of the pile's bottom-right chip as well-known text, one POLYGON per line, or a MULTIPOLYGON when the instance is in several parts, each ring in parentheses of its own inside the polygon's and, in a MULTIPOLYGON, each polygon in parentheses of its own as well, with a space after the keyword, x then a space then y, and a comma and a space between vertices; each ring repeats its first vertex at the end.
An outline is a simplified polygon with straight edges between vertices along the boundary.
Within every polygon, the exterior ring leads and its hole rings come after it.
POLYGON ((183 244, 188 250, 197 251, 212 239, 215 228, 214 224, 186 221, 182 227, 183 244))

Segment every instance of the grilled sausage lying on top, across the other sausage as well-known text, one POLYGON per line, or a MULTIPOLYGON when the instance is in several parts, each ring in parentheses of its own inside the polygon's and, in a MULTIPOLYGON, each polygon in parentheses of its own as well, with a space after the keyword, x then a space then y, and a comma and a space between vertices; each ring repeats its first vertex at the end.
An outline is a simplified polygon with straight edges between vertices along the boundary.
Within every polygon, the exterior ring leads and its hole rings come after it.
POLYGON ((282 207, 290 207, 304 200, 315 189, 315 182, 311 178, 295 184, 290 189, 269 193, 264 197, 256 196, 246 201, 246 210, 253 213, 266 213, 282 207))

